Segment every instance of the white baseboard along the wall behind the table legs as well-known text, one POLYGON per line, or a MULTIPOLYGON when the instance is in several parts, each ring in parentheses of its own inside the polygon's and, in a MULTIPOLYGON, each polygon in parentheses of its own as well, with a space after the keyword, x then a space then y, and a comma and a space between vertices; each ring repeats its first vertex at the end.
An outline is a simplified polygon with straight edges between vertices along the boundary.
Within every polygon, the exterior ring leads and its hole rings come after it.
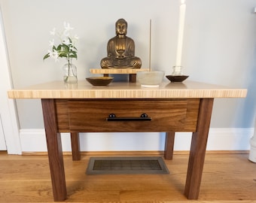
MULTIPOLYGON (((254 129, 210 129, 206 150, 249 150, 254 129)), ((177 132, 174 150, 190 150, 191 133, 177 132)), ((46 152, 44 129, 21 129, 23 152, 46 152)), ((165 133, 80 133, 81 151, 164 150, 165 133)), ((62 150, 71 151, 69 133, 62 133, 62 150)))

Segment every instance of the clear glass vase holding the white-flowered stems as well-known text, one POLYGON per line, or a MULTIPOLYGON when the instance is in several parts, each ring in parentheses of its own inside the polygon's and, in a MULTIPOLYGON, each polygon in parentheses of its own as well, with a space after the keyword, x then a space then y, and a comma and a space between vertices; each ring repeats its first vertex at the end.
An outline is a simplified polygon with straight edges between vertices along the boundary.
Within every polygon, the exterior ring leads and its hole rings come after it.
POLYGON ((63 70, 63 80, 65 83, 78 82, 77 67, 74 64, 72 64, 72 62, 65 64, 62 70, 63 70))

